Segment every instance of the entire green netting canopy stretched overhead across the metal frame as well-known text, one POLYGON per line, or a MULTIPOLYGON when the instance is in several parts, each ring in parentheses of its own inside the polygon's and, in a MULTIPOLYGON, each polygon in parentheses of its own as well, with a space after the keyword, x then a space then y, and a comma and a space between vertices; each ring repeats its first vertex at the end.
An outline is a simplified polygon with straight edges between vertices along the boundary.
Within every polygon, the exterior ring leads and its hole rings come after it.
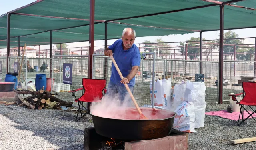
MULTIPOLYGON (((170 10, 179 10, 195 6, 204 6, 207 4, 213 3, 201 0, 96 0, 95 19, 111 20, 170 10)), ((256 6, 256 1, 245 0, 234 4, 254 8, 256 6)), ((16 13, 89 19, 89 6, 90 0, 44 0, 27 8, 18 10, 16 13)), ((224 28, 247 28, 256 26, 255 12, 256 11, 254 10, 225 6, 224 28)), ((89 26, 71 28, 74 26, 89 24, 88 21, 21 16, 16 14, 12 14, 10 19, 10 37, 26 35, 20 39, 21 44, 26 42, 28 46, 49 44, 49 32, 28 35, 46 30, 58 29, 58 31, 54 31, 52 34, 52 43, 80 42, 89 40, 89 26), (59 30, 62 28, 70 29, 59 30)), ((6 28, 3 28, 7 26, 6 22, 6 15, 1 16, 0 40, 6 39, 7 30, 6 28)), ((120 38, 122 30, 126 27, 134 28, 136 30, 137 37, 192 33, 192 31, 185 30, 218 30, 220 22, 220 7, 211 6, 182 12, 120 20, 117 22, 134 25, 115 24, 109 22, 108 39, 120 38), (149 28, 136 25, 162 28, 149 28)), ((95 24, 94 30, 94 40, 104 40, 104 23, 95 24)), ((18 38, 12 38, 10 46, 17 47, 18 38)), ((0 48, 6 48, 6 41, 0 41, 0 48)))

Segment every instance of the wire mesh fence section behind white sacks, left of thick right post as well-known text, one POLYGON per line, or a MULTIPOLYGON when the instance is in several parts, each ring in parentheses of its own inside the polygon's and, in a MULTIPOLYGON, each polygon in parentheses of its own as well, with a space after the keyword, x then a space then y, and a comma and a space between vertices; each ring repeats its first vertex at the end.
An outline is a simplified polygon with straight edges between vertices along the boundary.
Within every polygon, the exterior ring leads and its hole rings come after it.
MULTIPOLYGON (((218 86, 215 81, 218 79, 218 62, 202 63, 202 74, 204 74, 204 83, 206 85, 206 102, 217 102, 218 86)), ((172 80, 172 86, 181 83, 182 80, 197 81, 195 74, 200 74, 200 61, 190 60, 167 60, 167 75, 172 80)))

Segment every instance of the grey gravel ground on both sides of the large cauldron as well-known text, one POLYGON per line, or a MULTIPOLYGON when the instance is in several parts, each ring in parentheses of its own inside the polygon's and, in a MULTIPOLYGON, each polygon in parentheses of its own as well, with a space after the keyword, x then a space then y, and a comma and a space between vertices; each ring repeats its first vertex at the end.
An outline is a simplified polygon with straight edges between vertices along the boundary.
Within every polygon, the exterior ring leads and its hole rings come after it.
MULTIPOLYGON (((206 112, 226 110, 228 103, 207 104, 206 112)), ((76 114, 62 110, 28 110, 0 105, 0 150, 83 150, 84 128, 92 118, 75 122, 76 114)), ((218 116, 205 118, 205 127, 188 134, 189 150, 253 150, 256 142, 232 145, 228 140, 254 137, 256 122, 237 121, 218 116)))

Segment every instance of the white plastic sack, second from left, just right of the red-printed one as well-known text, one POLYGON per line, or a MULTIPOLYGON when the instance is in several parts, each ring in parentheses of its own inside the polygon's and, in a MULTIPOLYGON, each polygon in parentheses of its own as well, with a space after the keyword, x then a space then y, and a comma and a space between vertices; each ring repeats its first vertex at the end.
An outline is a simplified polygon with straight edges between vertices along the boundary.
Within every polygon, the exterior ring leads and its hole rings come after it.
POLYGON ((164 96, 164 98, 162 98, 162 103, 163 103, 163 108, 164 109, 171 109, 171 92, 172 92, 172 82, 170 79, 166 80, 162 80, 162 96, 164 96))

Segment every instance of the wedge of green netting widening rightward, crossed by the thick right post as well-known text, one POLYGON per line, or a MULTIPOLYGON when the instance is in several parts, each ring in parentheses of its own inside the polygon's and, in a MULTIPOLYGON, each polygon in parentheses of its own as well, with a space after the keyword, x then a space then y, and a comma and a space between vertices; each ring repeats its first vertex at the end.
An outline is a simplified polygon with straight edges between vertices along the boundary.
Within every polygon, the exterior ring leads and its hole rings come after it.
MULTIPOLYGON (((224 28, 256 26, 256 15, 251 14, 252 12, 253 10, 225 6, 224 28)), ((212 6, 170 14, 120 20, 119 22, 188 30, 216 30, 220 28, 220 7, 212 6)))

